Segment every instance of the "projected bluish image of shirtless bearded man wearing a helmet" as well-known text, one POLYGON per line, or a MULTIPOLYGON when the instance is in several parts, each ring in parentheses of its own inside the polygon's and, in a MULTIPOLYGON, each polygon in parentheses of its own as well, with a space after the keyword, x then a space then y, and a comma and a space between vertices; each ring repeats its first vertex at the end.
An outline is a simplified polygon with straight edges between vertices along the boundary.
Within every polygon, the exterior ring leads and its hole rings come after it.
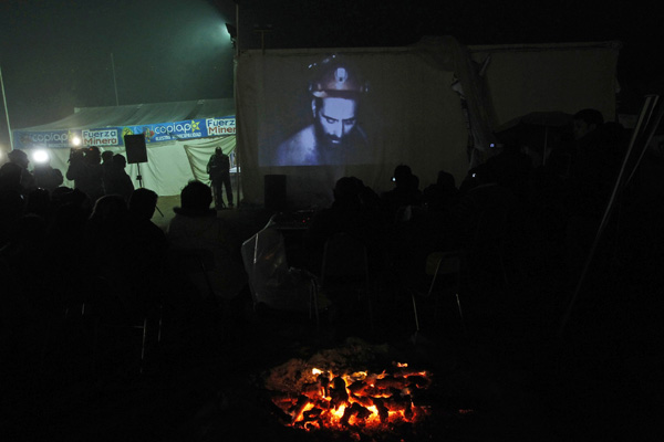
POLYGON ((367 92, 359 72, 339 57, 314 64, 309 84, 312 122, 277 148, 277 166, 364 164, 370 159, 359 107, 367 92))

